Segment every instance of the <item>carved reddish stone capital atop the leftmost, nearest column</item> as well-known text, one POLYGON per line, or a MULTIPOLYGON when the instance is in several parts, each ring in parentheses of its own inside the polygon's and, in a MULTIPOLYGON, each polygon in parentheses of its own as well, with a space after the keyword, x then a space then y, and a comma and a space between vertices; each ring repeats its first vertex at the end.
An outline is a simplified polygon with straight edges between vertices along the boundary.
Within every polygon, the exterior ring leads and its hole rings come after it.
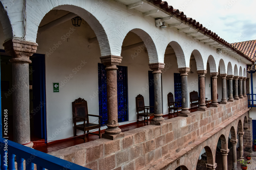
POLYGON ((6 41, 3 44, 3 46, 5 49, 5 52, 10 56, 12 56, 12 59, 10 59, 11 63, 15 63, 15 62, 31 63, 31 60, 29 60, 29 57, 36 52, 38 44, 28 42, 28 41, 11 39, 6 41))

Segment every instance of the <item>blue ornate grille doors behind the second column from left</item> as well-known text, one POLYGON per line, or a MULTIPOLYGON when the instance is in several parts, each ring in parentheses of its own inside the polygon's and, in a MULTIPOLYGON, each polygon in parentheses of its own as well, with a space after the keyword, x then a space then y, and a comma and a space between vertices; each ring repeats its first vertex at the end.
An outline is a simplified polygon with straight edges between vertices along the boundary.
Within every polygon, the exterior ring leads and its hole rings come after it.
MULTIPOLYGON (((102 116, 101 125, 108 122, 107 110, 107 85, 106 66, 98 63, 99 82, 99 115, 102 116)), ((118 101, 118 122, 128 121, 128 89, 127 89, 127 67, 117 66, 117 101, 118 101)))

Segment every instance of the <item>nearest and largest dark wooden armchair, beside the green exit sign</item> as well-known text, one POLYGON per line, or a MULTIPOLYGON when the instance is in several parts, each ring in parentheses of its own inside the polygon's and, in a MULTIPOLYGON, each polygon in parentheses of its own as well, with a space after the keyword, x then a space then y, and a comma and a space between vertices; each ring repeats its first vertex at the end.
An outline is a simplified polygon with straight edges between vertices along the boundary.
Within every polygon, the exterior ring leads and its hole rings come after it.
POLYGON ((87 101, 81 98, 76 99, 72 102, 72 115, 74 122, 74 136, 77 136, 77 129, 82 130, 84 134, 87 131, 87 135, 84 135, 83 140, 85 141, 86 136, 89 134, 98 135, 100 138, 100 118, 102 116, 88 114, 87 101), (89 116, 99 117, 99 124, 89 123, 89 116), (83 124, 77 124, 77 122, 82 122, 83 124), (89 133, 89 130, 98 129, 99 133, 89 133))

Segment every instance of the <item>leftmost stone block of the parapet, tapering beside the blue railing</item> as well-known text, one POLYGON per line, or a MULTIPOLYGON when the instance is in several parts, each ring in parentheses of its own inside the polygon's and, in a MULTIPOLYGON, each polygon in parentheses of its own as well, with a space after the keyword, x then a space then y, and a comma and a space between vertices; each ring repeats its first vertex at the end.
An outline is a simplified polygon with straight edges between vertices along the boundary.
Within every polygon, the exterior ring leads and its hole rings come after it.
POLYGON ((85 165, 85 149, 77 146, 71 146, 68 148, 54 151, 57 155, 60 155, 62 159, 84 166, 85 165))

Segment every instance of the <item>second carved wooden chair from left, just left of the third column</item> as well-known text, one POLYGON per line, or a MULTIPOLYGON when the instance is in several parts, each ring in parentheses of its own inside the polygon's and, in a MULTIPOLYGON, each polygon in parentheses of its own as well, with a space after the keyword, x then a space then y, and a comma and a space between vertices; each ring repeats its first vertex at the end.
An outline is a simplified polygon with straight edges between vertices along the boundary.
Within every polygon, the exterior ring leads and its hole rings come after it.
POLYGON ((154 107, 153 106, 145 106, 145 104, 144 104, 144 97, 141 94, 139 94, 136 97, 137 123, 138 122, 147 122, 147 125, 148 125, 148 120, 149 120, 148 117, 152 116, 154 114, 154 113, 150 113, 149 112, 150 108, 154 108, 154 107), (144 117, 144 120, 139 121, 138 120, 139 116, 144 117))

